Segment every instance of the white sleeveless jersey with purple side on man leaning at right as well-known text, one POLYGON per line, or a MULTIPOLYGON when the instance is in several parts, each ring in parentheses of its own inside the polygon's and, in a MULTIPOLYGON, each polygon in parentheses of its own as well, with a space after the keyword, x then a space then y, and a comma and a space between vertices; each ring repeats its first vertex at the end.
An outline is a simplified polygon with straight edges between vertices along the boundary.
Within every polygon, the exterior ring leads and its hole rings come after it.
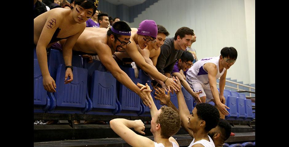
POLYGON ((191 77, 193 80, 200 81, 200 83, 203 83, 204 85, 209 84, 208 72, 204 70, 204 64, 214 63, 217 66, 218 72, 216 75, 216 79, 218 79, 226 71, 226 68, 224 68, 223 71, 220 73, 219 59, 220 57, 217 56, 217 57, 203 58, 197 61, 191 68, 188 69, 187 76, 191 77))

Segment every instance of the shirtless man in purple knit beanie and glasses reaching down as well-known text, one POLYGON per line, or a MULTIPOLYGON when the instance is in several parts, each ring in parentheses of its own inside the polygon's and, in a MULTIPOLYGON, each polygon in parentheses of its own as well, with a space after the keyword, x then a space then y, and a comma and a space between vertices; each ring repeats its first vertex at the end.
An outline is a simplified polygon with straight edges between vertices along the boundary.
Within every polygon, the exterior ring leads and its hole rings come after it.
POLYGON ((157 26, 153 20, 144 20, 138 28, 131 28, 132 36, 130 37, 130 45, 125 48, 124 53, 114 53, 117 62, 135 62, 146 73, 153 78, 162 81, 168 87, 168 90, 179 91, 180 87, 174 82, 176 79, 168 78, 157 71, 155 66, 145 62, 144 57, 137 49, 137 45, 144 49, 148 44, 156 42, 157 26), (126 61, 125 61, 126 60, 126 61), (129 61, 128 61, 129 60, 129 61))

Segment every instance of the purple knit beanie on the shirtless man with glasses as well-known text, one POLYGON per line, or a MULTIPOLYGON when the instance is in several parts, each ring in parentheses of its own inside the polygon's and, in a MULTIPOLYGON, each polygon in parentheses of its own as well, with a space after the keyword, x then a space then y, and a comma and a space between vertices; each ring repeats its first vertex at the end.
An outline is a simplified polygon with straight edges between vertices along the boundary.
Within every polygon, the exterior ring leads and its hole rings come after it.
POLYGON ((139 27, 137 28, 137 34, 156 38, 157 36, 156 22, 153 20, 142 21, 139 27))

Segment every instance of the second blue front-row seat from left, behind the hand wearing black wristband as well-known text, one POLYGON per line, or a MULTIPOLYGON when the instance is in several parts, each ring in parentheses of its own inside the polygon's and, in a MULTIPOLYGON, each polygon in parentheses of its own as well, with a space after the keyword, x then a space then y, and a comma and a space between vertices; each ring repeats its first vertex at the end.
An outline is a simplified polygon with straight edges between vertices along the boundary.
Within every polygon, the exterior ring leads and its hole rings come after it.
POLYGON ((49 113, 84 114, 88 109, 86 100, 87 69, 73 67, 73 81, 64 84, 65 65, 60 64, 56 75, 55 108, 49 108, 49 113))

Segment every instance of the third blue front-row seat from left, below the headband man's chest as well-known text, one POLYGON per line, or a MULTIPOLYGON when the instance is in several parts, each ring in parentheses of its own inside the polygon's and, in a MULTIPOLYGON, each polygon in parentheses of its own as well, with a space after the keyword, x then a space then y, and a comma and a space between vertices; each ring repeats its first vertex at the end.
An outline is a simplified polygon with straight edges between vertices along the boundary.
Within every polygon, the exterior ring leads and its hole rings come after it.
POLYGON ((93 72, 90 92, 93 109, 85 114, 114 115, 121 111, 117 103, 116 81, 110 73, 93 72))

